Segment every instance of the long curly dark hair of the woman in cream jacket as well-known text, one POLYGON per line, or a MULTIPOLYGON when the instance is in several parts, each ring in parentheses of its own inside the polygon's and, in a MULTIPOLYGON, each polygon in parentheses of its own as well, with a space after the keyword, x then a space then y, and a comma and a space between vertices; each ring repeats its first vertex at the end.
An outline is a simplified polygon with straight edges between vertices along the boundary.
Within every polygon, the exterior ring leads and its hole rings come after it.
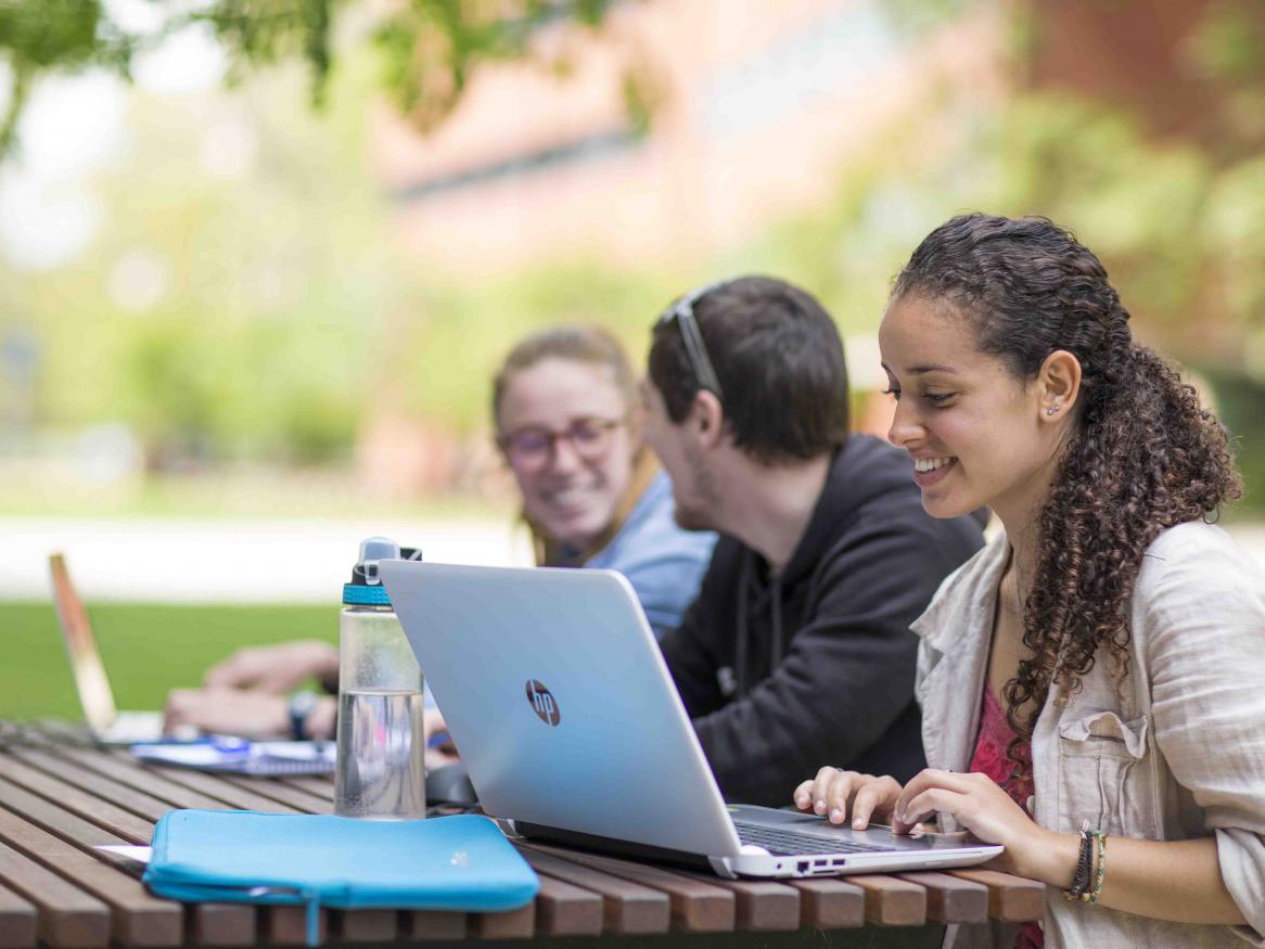
POLYGON ((954 218, 896 278, 893 299, 904 295, 950 304, 980 349, 1020 380, 1034 378, 1059 349, 1080 362, 1083 409, 1039 514, 1023 602, 1023 643, 1034 655, 1003 688, 1016 734, 1008 757, 1027 771, 1020 748, 1051 683, 1063 696, 1079 688, 1101 652, 1123 681, 1130 600, 1147 545, 1165 528, 1216 516, 1241 483, 1225 428, 1175 368, 1133 342, 1102 262, 1052 221, 954 218))

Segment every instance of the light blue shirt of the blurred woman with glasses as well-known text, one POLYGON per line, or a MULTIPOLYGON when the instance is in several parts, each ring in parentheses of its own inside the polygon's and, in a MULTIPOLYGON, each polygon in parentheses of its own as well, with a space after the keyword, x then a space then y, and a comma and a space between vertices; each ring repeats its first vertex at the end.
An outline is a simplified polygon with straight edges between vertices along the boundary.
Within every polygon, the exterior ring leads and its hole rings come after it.
POLYGON ((583 564, 627 577, 660 639, 681 625, 681 615, 694 601, 716 544, 710 531, 678 526, 674 510, 672 481, 660 471, 611 543, 583 564))

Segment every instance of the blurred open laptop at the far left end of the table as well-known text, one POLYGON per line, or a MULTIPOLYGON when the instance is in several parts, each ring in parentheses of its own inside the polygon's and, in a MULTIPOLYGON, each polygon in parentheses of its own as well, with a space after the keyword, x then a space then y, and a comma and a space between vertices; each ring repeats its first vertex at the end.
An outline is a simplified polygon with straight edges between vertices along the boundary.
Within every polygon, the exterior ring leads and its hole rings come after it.
POLYGON ((59 553, 52 554, 48 568, 53 576, 53 605, 66 640, 75 690, 92 735, 109 745, 157 741, 162 738, 162 712, 119 711, 114 706, 114 692, 110 691, 110 679, 105 676, 105 664, 96 648, 92 624, 89 623, 83 601, 71 583, 66 558, 59 553))

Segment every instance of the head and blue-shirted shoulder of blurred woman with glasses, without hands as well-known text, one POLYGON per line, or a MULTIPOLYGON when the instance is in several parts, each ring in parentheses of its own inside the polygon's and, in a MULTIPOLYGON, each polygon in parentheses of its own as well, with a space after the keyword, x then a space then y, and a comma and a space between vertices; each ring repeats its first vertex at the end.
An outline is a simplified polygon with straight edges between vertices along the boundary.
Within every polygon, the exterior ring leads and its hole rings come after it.
POLYGON ((655 634, 674 628, 716 538, 673 519, 672 485, 645 444, 636 380, 619 340, 591 326, 524 339, 493 381, 492 421, 536 562, 616 569, 655 634))

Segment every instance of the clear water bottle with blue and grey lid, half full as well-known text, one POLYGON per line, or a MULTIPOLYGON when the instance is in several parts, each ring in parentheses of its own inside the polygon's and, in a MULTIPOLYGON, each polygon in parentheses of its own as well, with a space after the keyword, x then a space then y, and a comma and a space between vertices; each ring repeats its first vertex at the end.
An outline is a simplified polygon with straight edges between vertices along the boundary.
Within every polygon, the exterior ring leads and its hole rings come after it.
POLYGON ((334 812, 344 817, 426 816, 421 669, 378 578, 378 562, 400 557, 393 540, 362 542, 343 587, 334 812))

